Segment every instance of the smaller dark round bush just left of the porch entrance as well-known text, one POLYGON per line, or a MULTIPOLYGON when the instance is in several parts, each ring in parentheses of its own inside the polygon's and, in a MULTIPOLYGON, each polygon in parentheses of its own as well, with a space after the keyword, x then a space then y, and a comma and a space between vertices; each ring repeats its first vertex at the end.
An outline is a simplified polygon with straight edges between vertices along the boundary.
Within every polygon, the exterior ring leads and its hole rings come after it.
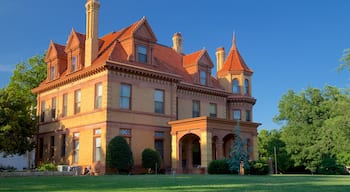
POLYGON ((145 169, 151 169, 155 171, 155 167, 157 165, 157 170, 160 168, 162 160, 158 151, 146 148, 142 151, 142 166, 145 169))

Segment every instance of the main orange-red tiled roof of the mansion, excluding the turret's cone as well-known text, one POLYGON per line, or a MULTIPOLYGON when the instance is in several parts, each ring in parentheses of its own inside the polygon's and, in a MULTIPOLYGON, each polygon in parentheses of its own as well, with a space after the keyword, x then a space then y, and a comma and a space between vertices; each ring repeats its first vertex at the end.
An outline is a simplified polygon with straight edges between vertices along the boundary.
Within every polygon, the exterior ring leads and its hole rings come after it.
MULTIPOLYGON (((78 33, 74 29, 72 29, 71 35, 69 36, 69 39, 67 41, 67 45, 58 45, 57 49, 60 50, 60 53, 62 53, 62 51, 64 53, 64 50, 67 49, 67 46, 71 44, 73 36, 79 41, 80 45, 82 45, 82 43, 85 43, 85 34, 78 33)), ((108 65, 109 67, 117 67, 117 65, 120 65, 122 67, 135 68, 135 70, 145 69, 151 71, 152 73, 159 73, 163 75, 168 74, 169 76, 174 76, 176 78, 181 79, 181 81, 184 82, 184 85, 186 86, 199 86, 195 83, 195 76, 189 74, 186 71, 185 67, 187 65, 189 66, 199 63, 199 61, 203 58, 207 59, 207 57, 209 57, 207 51, 205 49, 202 49, 194 53, 185 55, 177 53, 171 47, 160 45, 156 41, 157 39, 150 25, 148 24, 146 18, 143 17, 139 21, 136 21, 135 23, 131 24, 126 28, 123 28, 117 32, 111 32, 99 38, 98 55, 97 58, 93 61, 91 67, 83 68, 81 71, 77 71, 74 74, 70 74, 67 71, 65 71, 60 77, 62 79, 56 81, 56 83, 67 82, 67 79, 72 79, 73 76, 83 77, 85 76, 83 74, 90 73, 89 71, 92 70, 100 70, 100 68, 103 66, 108 65), (147 35, 147 37, 145 35, 147 35), (153 51, 151 63, 138 63, 128 59, 126 47, 124 47, 122 42, 130 38, 141 38, 146 42, 150 42, 152 44, 153 51)), ((210 64, 212 63, 211 60, 208 63, 209 66, 212 65, 210 64)), ((210 89, 224 90, 216 78, 210 77, 210 81, 210 89)), ((49 85, 50 83, 50 81, 44 81, 42 84, 47 84, 45 85, 46 87, 53 86, 49 85)), ((35 91, 37 90, 39 89, 35 89, 35 91)))

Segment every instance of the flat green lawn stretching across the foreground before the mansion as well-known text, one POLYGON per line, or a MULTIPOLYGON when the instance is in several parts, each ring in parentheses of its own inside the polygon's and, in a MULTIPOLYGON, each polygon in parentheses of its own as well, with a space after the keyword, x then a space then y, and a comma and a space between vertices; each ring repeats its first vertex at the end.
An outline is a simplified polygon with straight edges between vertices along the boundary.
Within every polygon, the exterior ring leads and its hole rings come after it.
POLYGON ((0 178, 0 191, 350 191, 350 176, 108 175, 0 178))

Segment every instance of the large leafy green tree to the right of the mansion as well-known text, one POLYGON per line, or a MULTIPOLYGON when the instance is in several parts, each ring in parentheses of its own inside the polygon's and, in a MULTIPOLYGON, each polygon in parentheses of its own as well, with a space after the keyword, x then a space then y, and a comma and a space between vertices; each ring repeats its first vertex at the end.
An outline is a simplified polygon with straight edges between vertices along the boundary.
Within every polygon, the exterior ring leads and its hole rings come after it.
POLYGON ((283 123, 281 139, 294 166, 317 172, 339 159, 348 162, 341 154, 350 148, 349 104, 349 95, 331 86, 309 87, 299 94, 289 91, 282 97, 275 120, 283 123))

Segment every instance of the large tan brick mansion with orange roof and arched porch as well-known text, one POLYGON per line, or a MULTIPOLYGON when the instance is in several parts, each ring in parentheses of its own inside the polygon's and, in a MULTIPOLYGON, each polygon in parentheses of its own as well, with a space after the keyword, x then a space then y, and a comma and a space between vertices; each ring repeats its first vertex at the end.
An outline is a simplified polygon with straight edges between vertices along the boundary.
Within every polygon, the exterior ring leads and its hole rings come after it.
POLYGON ((159 44, 147 19, 98 37, 100 2, 86 2, 86 32, 74 29, 66 45, 50 42, 47 79, 37 94, 36 164, 100 165, 115 136, 131 147, 135 170, 153 148, 162 167, 178 173, 228 158, 239 123, 250 160, 258 158, 253 121, 253 71, 235 37, 228 53, 184 53, 180 33, 171 47, 159 44), (214 69, 213 69, 214 68, 214 69), (216 77, 212 71, 216 70, 216 77))

